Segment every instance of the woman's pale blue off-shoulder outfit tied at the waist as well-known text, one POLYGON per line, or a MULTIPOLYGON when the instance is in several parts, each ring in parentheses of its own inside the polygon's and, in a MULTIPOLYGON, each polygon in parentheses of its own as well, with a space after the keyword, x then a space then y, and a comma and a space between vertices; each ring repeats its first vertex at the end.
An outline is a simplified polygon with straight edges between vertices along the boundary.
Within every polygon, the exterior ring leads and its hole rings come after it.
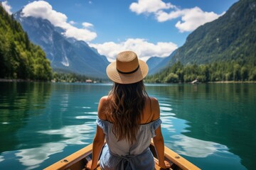
POLYGON ((112 123, 99 118, 96 123, 105 133, 107 143, 100 157, 101 169, 154 169, 154 157, 149 150, 149 145, 151 137, 155 136, 155 130, 161 124, 161 119, 140 125, 137 142, 132 145, 127 140, 117 141, 112 132, 112 123))

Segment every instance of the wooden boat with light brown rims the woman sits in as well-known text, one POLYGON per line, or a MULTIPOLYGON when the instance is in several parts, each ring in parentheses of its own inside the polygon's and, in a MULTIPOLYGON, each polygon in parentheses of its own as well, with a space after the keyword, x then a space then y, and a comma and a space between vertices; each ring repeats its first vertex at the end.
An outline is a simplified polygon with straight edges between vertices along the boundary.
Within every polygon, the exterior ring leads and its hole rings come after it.
MULTIPOLYGON (((151 141, 150 149, 152 154, 154 155, 154 162, 155 162, 155 169, 160 170, 161 168, 156 164, 158 159, 156 158, 156 151, 154 149, 154 143, 151 141)), ((92 154, 92 144, 87 145, 80 149, 78 152, 70 154, 70 156, 61 159, 60 161, 56 162, 48 166, 44 170, 79 170, 85 169, 85 165, 87 164, 88 160, 90 160, 92 154)), ((176 152, 172 151, 168 147, 164 147, 164 156, 166 161, 171 164, 171 169, 181 170, 181 169, 190 169, 190 170, 198 170, 199 168, 188 162, 188 160, 184 159, 180 155, 176 154, 176 152)), ((97 169, 100 170, 100 164, 98 162, 97 169)))

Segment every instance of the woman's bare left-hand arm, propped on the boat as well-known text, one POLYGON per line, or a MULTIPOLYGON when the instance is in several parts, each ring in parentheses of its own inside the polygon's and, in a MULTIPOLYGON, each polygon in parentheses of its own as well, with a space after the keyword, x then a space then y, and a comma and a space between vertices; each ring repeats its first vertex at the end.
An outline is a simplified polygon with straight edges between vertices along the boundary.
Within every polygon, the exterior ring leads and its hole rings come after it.
MULTIPOLYGON (((107 101, 107 96, 100 98, 100 102, 99 102, 99 106, 98 106, 98 117, 101 120, 107 119, 106 115, 105 115, 105 106, 107 103, 106 101, 107 101)), ((92 142, 92 162, 89 162, 89 164, 87 164, 87 168, 95 169, 97 167, 97 162, 99 160, 100 152, 104 145, 104 141, 105 141, 105 134, 104 134, 102 128, 100 128, 97 125, 95 138, 92 142), (90 167, 90 163, 91 163, 91 167, 90 167)))

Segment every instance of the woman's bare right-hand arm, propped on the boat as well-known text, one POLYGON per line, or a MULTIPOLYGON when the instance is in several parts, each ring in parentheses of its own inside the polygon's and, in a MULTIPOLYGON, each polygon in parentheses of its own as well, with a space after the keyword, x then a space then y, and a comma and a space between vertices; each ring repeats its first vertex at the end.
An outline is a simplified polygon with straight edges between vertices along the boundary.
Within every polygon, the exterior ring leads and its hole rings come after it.
MULTIPOLYGON (((152 111, 154 113, 153 120, 160 118, 159 102, 154 98, 152 100, 152 111)), ((155 137, 153 137, 154 146, 156 148, 156 154, 159 159, 159 166, 163 169, 170 168, 169 162, 164 161, 164 137, 161 133, 161 125, 155 130, 155 137)))

